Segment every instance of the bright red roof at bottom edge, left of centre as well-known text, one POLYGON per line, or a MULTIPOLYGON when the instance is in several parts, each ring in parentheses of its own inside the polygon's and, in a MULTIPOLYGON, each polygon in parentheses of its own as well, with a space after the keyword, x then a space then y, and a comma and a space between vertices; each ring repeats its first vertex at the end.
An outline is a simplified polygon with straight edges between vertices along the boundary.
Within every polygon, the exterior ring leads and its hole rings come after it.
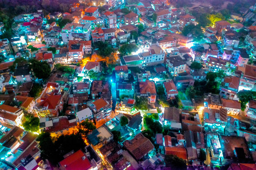
POLYGON ((60 161, 59 164, 65 170, 88 170, 91 168, 90 161, 81 150, 60 161))

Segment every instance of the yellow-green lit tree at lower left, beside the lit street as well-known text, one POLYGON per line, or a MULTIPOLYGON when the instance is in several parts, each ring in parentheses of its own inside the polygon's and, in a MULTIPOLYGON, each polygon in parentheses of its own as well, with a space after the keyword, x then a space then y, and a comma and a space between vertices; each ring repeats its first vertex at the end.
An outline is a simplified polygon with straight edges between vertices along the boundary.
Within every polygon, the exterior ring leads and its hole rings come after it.
POLYGON ((39 130, 39 118, 34 117, 33 115, 27 115, 25 116, 25 121, 22 126, 27 131, 37 132, 39 130))

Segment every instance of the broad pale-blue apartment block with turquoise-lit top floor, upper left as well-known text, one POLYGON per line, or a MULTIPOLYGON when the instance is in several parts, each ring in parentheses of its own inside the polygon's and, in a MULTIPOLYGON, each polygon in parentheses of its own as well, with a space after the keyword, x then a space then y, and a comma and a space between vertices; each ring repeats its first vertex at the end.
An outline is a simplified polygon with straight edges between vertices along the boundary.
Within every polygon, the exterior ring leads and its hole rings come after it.
POLYGON ((91 39, 91 25, 90 24, 67 24, 61 31, 62 41, 68 43, 70 40, 85 40, 91 39))

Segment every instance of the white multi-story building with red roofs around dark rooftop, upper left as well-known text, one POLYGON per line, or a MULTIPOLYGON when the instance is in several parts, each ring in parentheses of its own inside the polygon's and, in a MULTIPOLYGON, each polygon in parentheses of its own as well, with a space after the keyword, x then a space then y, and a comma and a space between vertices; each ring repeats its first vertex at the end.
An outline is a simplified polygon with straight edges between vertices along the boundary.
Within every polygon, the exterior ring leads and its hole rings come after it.
POLYGON ((78 41, 73 40, 68 42, 67 56, 69 60, 78 61, 84 55, 91 53, 91 41, 78 41))

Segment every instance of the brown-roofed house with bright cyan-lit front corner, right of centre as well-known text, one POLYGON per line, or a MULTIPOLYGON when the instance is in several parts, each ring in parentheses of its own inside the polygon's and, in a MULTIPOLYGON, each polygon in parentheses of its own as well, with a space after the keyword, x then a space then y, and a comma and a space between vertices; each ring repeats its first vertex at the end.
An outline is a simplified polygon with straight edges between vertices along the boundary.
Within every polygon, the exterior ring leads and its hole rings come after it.
POLYGON ((174 129, 181 129, 181 120, 180 120, 180 109, 175 107, 165 108, 164 112, 164 125, 168 125, 174 129))

